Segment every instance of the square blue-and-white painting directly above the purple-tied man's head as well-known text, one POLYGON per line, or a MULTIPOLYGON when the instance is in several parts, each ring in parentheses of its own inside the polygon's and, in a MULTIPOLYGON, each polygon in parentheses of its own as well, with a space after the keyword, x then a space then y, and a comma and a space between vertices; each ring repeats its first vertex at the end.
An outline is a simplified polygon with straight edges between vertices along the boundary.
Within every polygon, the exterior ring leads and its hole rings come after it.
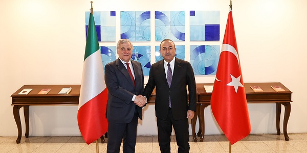
POLYGON ((156 41, 185 41, 185 11, 155 11, 156 41))

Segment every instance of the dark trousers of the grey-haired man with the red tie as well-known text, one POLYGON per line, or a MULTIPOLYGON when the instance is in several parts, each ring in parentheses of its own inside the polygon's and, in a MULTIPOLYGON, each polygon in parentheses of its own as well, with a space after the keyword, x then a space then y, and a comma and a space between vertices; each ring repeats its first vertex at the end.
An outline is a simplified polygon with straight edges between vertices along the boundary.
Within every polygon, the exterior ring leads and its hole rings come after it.
POLYGON ((123 153, 131 153, 136 151, 135 147, 137 142, 137 126, 139 117, 136 112, 133 119, 129 123, 108 122, 107 153, 119 153, 122 140, 123 153))

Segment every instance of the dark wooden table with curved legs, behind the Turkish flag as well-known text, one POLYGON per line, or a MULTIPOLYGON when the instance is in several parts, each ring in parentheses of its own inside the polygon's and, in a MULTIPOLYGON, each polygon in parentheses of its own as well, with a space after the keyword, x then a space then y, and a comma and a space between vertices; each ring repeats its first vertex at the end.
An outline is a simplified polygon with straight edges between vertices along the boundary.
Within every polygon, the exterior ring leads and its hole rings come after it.
MULTIPOLYGON (((213 84, 196 84, 196 88, 198 91, 198 106, 196 108, 196 113, 194 118, 192 119, 192 133, 194 142, 197 142, 196 133, 195 133, 195 124, 196 119, 199 117, 200 120, 200 131, 198 132, 198 136, 200 136, 200 141, 204 141, 205 135, 205 117, 204 117, 204 109, 210 105, 211 93, 207 93, 204 89, 204 85, 213 85, 213 84)), ((289 141, 289 136, 287 133, 287 125, 290 117, 291 111, 291 94, 292 92, 286 88, 281 83, 245 83, 245 92, 247 103, 275 103, 276 104, 276 130, 277 135, 280 135, 280 112, 281 105, 284 106, 284 118, 283 118, 283 135, 286 141, 289 141), (276 92, 271 86, 281 86, 284 90, 283 92, 276 92), (254 92, 250 86, 259 86, 264 92, 254 92)))

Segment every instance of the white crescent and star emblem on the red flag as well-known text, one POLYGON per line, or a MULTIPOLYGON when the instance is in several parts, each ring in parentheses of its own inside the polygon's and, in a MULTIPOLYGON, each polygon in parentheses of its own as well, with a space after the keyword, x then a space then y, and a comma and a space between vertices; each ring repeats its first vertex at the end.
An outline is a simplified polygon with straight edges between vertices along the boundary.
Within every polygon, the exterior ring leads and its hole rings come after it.
MULTIPOLYGON (((238 53, 236 52, 235 48, 229 44, 223 44, 222 45, 222 52, 230 52, 232 53, 236 59, 237 59, 237 62, 238 62, 238 66, 240 68, 240 61, 239 61, 239 56, 238 56, 238 53)), ((235 93, 237 92, 238 90, 238 87, 243 87, 242 83, 240 82, 240 79, 241 79, 241 75, 239 75, 239 77, 235 78, 233 77, 233 75, 230 74, 230 77, 231 77, 231 82, 227 84, 227 86, 233 86, 234 87, 234 90, 235 90, 235 93)), ((216 77, 215 77, 215 80, 216 81, 219 81, 221 82, 221 80, 218 80, 216 77)))

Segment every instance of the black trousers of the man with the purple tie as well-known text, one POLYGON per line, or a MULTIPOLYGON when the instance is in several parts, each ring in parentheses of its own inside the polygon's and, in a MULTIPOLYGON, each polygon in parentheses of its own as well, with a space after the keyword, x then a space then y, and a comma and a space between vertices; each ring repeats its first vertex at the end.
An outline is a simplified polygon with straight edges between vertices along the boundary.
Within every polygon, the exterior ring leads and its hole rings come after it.
POLYGON ((176 134, 176 141, 178 145, 178 152, 189 152, 189 122, 188 119, 174 120, 171 109, 168 110, 166 120, 157 118, 158 125, 158 141, 160 151, 162 153, 170 153, 170 136, 172 126, 176 134))

